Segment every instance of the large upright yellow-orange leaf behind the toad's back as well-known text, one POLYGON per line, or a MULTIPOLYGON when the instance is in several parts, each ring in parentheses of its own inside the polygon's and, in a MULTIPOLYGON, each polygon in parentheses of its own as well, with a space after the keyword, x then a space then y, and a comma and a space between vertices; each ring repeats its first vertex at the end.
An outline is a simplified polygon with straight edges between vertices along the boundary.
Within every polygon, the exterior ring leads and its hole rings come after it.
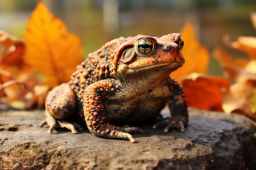
POLYGON ((50 87, 68 82, 83 60, 79 37, 69 33, 65 24, 38 2, 24 33, 24 61, 46 76, 50 87))

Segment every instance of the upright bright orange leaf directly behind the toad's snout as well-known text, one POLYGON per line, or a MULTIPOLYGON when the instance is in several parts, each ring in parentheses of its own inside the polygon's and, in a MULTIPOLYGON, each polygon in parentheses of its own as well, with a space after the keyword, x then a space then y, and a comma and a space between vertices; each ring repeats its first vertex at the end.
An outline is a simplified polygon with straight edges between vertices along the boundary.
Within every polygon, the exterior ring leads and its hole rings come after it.
POLYGON ((174 73, 171 73, 171 77, 179 81, 181 76, 191 73, 206 74, 210 59, 209 51, 197 40, 193 24, 191 22, 186 23, 180 34, 184 40, 184 48, 181 53, 185 58, 185 64, 174 73))

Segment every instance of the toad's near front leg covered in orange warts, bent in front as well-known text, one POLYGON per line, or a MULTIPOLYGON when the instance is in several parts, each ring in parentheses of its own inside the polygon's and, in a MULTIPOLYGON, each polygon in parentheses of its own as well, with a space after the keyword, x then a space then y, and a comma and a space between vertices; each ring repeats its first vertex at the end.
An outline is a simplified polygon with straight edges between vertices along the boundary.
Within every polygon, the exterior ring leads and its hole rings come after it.
POLYGON ((84 115, 88 129, 97 137, 103 138, 128 138, 131 143, 135 143, 131 132, 143 133, 140 128, 120 128, 110 125, 106 121, 106 109, 103 99, 109 95, 115 95, 119 85, 114 80, 101 80, 91 84, 85 89, 84 94, 84 115))

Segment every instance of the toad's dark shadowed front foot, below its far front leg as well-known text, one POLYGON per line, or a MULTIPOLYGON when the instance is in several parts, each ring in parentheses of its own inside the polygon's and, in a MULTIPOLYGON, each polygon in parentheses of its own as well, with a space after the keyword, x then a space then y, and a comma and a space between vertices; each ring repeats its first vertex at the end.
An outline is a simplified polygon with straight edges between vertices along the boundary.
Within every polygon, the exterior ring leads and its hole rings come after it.
POLYGON ((188 119, 183 117, 183 116, 174 116, 174 117, 170 117, 166 120, 160 121, 158 123, 156 123, 152 128, 156 129, 159 126, 166 126, 166 128, 164 128, 164 133, 167 133, 168 131, 170 131, 171 129, 177 128, 180 131, 185 131, 185 126, 188 124, 188 119))

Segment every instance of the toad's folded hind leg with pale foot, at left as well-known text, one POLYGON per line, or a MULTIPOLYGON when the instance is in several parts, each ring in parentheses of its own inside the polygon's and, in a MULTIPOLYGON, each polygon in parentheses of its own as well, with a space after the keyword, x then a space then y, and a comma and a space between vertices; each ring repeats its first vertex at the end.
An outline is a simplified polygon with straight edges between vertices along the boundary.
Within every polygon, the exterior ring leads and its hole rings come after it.
POLYGON ((76 95, 67 83, 63 83, 50 91, 46 98, 46 120, 40 126, 48 125, 48 134, 56 128, 67 128, 73 134, 83 128, 74 121, 68 120, 69 116, 75 111, 76 95))

